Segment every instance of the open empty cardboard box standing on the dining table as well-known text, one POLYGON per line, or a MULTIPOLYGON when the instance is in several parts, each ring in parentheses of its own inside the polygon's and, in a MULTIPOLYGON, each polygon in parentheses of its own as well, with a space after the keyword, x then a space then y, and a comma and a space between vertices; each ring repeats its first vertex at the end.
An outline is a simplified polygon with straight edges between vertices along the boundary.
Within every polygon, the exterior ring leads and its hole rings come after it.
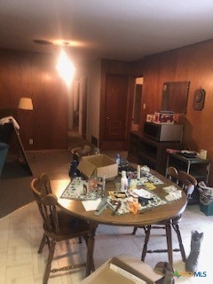
POLYGON ((77 167, 85 177, 98 176, 110 179, 118 175, 117 163, 106 154, 82 157, 77 167))

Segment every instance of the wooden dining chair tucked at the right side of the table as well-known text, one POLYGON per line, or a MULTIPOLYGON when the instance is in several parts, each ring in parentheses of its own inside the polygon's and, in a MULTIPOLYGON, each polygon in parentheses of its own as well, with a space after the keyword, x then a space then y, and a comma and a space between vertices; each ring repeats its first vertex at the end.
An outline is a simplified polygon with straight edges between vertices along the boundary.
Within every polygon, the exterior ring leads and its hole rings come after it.
MULTIPOLYGON (((174 167, 168 168, 167 177, 171 181, 173 181, 174 183, 179 185, 183 189, 183 191, 185 191, 187 198, 189 198, 189 196, 191 196, 190 194, 192 193, 192 188, 194 188, 194 186, 197 185, 196 178, 194 178, 193 176, 191 176, 190 174, 188 174, 184 171, 178 172, 177 169, 174 168, 174 167)), ((185 258, 185 248, 184 248, 181 233, 180 233, 180 230, 179 230, 180 220, 181 220, 181 215, 177 216, 176 218, 164 220, 164 221, 162 221, 158 224, 155 224, 155 225, 146 225, 146 226, 143 227, 146 236, 145 236, 145 241, 144 241, 144 246, 143 246, 142 256, 141 256, 142 261, 145 260, 146 253, 167 252, 168 257, 169 257, 169 263, 170 263, 171 266, 173 266, 173 256, 172 256, 173 251, 180 251, 181 256, 182 256, 182 260, 185 262, 185 259, 186 259, 185 258), (173 228, 175 233, 177 234, 177 241, 178 241, 179 248, 172 248, 171 228, 173 228), (148 241, 149 241, 149 237, 150 237, 152 229, 164 229, 166 231, 166 239, 167 239, 167 248, 166 249, 155 249, 155 250, 147 249, 148 241)), ((134 227, 133 234, 135 234, 136 231, 137 231, 137 227, 134 227)))

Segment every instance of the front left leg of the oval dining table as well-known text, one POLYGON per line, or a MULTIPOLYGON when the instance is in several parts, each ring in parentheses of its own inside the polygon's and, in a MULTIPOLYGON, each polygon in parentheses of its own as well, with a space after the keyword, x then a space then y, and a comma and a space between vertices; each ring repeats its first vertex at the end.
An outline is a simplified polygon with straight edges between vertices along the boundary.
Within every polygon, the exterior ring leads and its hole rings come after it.
POLYGON ((86 262, 86 277, 91 274, 91 271, 95 270, 94 261, 93 261, 93 251, 95 247, 95 233, 98 227, 97 223, 90 223, 89 238, 87 241, 87 262, 86 262))

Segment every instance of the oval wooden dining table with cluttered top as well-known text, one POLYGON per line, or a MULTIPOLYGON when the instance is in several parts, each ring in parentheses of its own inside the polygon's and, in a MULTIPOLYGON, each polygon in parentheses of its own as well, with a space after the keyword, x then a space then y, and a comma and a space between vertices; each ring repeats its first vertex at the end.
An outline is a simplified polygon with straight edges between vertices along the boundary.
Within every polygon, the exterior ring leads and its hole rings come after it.
MULTIPOLYGON (((169 179, 158 174, 154 170, 152 173, 155 177, 162 180, 162 185, 155 185, 154 193, 158 194, 160 197, 164 198, 166 193, 162 191, 162 187, 168 185, 174 185, 169 179)), ((150 210, 146 210, 143 214, 122 214, 113 215, 112 209, 106 208, 99 216, 94 215, 94 211, 86 211, 83 207, 82 201, 69 200, 60 198, 61 194, 66 189, 70 179, 59 179, 51 180, 51 186, 53 193, 58 197, 59 207, 67 211, 68 214, 87 220, 91 225, 91 235, 88 241, 88 256, 87 256, 87 266, 86 275, 91 273, 91 259, 94 250, 95 232, 99 224, 105 225, 119 225, 119 226, 144 226, 157 224, 163 220, 178 217, 185 210, 187 204, 187 198, 185 193, 182 193, 182 197, 177 201, 171 201, 165 205, 155 207, 150 210)), ((176 185, 177 186, 177 185, 176 185)), ((114 181, 106 182, 106 195, 108 191, 114 191, 115 185, 114 181)), ((171 256, 172 257, 172 256, 171 256)), ((172 260, 172 259, 171 259, 172 260)))

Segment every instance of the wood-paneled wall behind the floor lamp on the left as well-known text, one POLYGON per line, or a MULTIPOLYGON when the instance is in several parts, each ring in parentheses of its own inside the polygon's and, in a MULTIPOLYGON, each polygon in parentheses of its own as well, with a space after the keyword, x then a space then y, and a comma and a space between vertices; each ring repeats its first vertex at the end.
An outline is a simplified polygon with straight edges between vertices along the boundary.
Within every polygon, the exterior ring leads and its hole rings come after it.
POLYGON ((0 50, 1 108, 17 108, 21 97, 33 100, 34 110, 17 119, 25 149, 67 148, 67 91, 51 54, 0 50), (29 116, 30 115, 30 116, 29 116), (30 135, 30 137, 29 137, 30 135), (29 146, 28 139, 34 144, 29 146))

